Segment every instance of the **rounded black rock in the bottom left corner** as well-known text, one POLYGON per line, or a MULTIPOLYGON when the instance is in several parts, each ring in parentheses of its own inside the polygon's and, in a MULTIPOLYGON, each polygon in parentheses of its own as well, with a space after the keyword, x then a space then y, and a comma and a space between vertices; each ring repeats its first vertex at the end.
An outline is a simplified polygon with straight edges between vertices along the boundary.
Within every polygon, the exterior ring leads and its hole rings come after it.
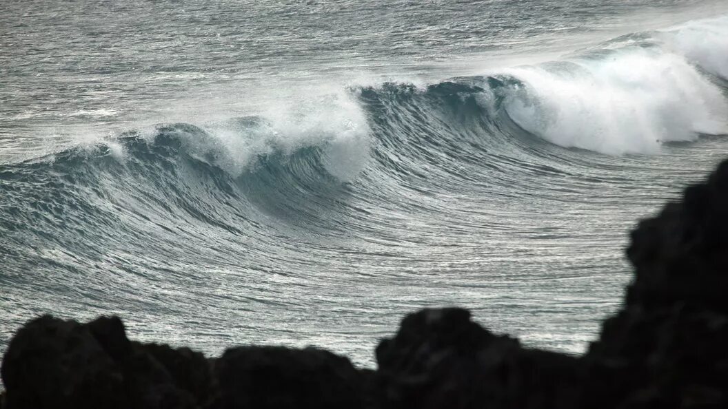
POLYGON ((50 316, 20 328, 3 359, 7 408, 124 408, 124 376, 89 327, 50 316))

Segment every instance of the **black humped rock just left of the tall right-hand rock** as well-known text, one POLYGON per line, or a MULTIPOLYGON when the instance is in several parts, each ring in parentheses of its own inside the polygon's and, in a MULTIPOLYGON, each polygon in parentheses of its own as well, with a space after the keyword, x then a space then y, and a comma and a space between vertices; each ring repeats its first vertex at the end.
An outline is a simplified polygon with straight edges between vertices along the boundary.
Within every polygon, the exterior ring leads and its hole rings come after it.
POLYGON ((523 349, 464 309, 408 315, 376 357, 386 408, 572 408, 578 396, 576 358, 523 349))

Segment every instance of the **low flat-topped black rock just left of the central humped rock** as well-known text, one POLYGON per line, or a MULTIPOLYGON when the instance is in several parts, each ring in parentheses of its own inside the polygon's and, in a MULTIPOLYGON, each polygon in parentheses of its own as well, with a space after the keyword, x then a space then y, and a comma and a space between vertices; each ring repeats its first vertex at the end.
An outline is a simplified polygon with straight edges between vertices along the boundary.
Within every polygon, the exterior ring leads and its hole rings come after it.
POLYGON ((241 346, 215 362, 214 408, 365 408, 365 374, 323 349, 241 346))

